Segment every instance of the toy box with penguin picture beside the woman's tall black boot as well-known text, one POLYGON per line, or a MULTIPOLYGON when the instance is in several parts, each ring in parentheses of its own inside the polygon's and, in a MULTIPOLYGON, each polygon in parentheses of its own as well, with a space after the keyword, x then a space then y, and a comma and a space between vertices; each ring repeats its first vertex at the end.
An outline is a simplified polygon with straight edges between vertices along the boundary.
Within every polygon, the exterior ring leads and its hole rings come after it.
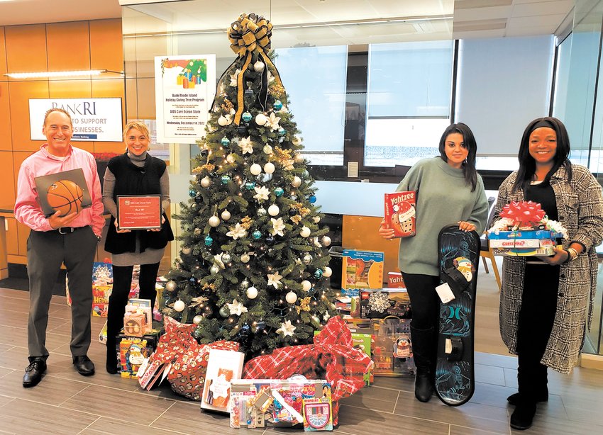
POLYGON ((375 331, 373 373, 375 376, 414 374, 410 320, 397 317, 371 320, 375 331))

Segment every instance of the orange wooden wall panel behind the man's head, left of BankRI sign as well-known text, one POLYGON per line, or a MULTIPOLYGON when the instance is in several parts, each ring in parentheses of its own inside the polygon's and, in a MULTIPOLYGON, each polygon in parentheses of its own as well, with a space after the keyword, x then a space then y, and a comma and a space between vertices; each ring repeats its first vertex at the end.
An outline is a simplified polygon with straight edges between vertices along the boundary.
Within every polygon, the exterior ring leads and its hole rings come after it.
MULTIPOLYGON (((37 151, 44 142, 31 140, 29 132, 29 98, 48 98, 48 81, 11 81, 11 129, 13 130, 13 150, 37 151)), ((38 120, 35 120, 38 123, 38 120)), ((36 128, 42 130, 43 119, 36 128)))

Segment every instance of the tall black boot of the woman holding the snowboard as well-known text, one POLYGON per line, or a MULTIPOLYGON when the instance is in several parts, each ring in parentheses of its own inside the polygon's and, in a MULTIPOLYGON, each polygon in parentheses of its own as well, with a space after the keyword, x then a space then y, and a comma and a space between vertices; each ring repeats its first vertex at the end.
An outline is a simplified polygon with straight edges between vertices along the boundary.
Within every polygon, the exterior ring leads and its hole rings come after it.
POLYGON ((433 360, 435 344, 433 328, 416 329, 411 326, 412 353, 416 366, 414 395, 420 402, 428 402, 433 394, 433 360))

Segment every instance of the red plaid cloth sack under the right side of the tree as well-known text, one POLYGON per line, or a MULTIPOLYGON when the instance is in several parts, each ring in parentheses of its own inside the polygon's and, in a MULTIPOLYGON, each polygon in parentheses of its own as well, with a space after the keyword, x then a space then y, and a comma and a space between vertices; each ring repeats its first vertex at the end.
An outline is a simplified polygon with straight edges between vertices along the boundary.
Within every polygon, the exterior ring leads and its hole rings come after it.
POLYGON ((302 374, 308 379, 326 379, 333 388, 333 401, 363 388, 364 373, 372 366, 370 356, 354 349, 352 333, 341 317, 331 317, 314 344, 276 349, 245 364, 243 378, 288 379, 302 374))

